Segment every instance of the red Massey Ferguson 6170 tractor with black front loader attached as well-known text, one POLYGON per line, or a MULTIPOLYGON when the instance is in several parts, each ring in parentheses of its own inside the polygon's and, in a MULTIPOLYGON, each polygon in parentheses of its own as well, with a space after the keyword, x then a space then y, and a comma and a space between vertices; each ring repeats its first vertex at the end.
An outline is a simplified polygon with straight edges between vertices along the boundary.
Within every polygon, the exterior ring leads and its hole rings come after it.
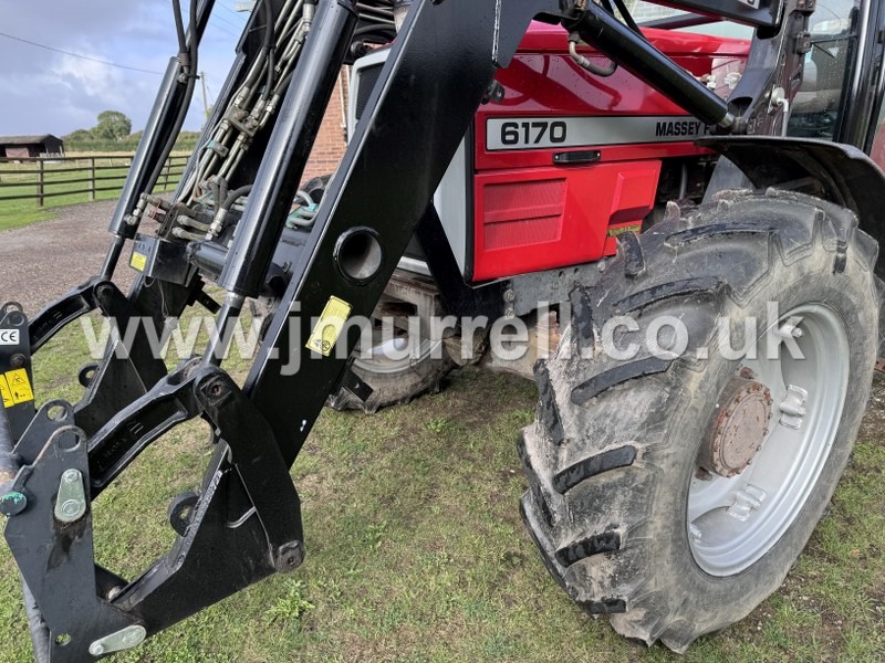
POLYGON ((164 199, 212 2, 191 4, 102 273, 30 322, 0 316, 0 373, 29 390, 64 325, 98 309, 121 329, 80 403, 0 409, 38 660, 131 649, 298 568, 289 467, 322 407, 374 411, 468 364, 538 383, 522 514, 590 613, 681 652, 781 585, 881 354, 883 15, 668 4, 260 0, 164 199), (343 65, 347 152, 299 186, 343 65), (239 386, 222 364, 250 298, 269 313, 239 386), (197 304, 218 333, 167 372, 150 335, 197 304), (135 579, 97 566, 92 502, 195 418, 215 453, 169 505, 175 546, 135 579))

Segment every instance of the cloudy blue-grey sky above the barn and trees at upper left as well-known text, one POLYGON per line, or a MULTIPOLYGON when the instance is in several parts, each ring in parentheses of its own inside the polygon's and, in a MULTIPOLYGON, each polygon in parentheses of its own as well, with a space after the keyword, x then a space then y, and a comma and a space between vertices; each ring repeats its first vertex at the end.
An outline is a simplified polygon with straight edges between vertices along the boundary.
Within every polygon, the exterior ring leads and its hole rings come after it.
MULTIPOLYGON (((187 24, 188 0, 181 0, 187 24)), ((221 88, 248 14, 217 0, 200 48, 209 104, 221 88)), ((146 70, 165 71, 178 51, 170 0, 0 0, 0 32, 146 70)), ((0 35, 0 135, 54 134, 91 128, 102 110, 119 110, 144 128, 162 75, 129 71, 33 46, 0 35)), ((204 119, 199 86, 186 129, 204 119)))

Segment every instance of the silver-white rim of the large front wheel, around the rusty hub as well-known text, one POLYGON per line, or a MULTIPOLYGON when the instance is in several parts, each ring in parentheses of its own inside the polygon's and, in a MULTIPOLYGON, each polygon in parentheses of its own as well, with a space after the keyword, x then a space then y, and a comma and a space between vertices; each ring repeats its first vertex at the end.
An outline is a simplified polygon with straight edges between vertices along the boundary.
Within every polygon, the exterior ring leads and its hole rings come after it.
POLYGON ((757 358, 741 361, 773 400, 769 432, 756 457, 730 478, 691 478, 688 540, 695 561, 711 576, 739 573, 771 550, 795 522, 830 457, 848 388, 847 332, 825 304, 798 306, 773 327, 783 329, 796 319, 801 336, 794 340, 804 359, 791 357, 784 345, 777 358, 768 358, 767 330, 757 341, 757 358), (800 389, 808 393, 804 399, 800 389), (796 410, 804 415, 791 414, 796 410))

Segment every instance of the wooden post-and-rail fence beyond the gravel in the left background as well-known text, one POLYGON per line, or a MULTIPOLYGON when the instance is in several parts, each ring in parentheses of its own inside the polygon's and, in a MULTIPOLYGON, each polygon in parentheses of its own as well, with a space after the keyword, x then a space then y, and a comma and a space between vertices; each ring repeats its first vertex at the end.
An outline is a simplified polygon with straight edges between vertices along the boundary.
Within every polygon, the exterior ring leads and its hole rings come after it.
MULTIPOLYGON (((95 200, 96 196, 108 198, 105 192, 123 189, 132 159, 133 155, 0 158, 0 204, 12 200, 35 200, 39 207, 43 207, 50 198, 71 198, 62 203, 95 200)), ((186 156, 169 157, 154 191, 175 188, 187 159, 186 156)))

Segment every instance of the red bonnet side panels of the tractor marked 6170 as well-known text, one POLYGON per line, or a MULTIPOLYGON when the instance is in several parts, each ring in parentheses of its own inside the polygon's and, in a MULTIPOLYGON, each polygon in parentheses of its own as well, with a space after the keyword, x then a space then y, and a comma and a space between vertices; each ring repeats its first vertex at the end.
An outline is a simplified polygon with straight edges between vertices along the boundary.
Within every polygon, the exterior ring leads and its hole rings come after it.
MULTIPOLYGON (((749 41, 647 30, 648 40, 696 76, 742 72, 749 41)), ((686 117, 685 110, 632 74, 590 74, 566 52, 560 27, 533 23, 511 65, 498 74, 502 103, 483 105, 476 120, 473 270, 483 281, 613 255, 620 230, 636 229, 652 210, 662 159, 705 154, 691 139, 614 145, 489 149, 490 118, 686 117), (592 164, 554 165, 555 154, 597 150, 592 164)), ((583 54, 594 53, 589 49, 583 54)), ((596 57, 600 57, 596 55, 596 57)), ((600 66, 607 61, 598 59, 600 66)))

